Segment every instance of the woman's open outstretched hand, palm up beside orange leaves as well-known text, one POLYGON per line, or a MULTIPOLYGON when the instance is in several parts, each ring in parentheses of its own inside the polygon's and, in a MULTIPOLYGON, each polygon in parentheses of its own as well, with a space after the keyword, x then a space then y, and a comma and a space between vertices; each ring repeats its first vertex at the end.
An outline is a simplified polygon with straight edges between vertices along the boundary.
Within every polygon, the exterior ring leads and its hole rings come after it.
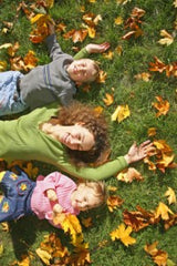
POLYGON ((149 152, 154 151, 154 149, 155 147, 150 141, 145 141, 139 146, 137 146, 135 142, 124 157, 127 164, 135 163, 146 157, 149 152))

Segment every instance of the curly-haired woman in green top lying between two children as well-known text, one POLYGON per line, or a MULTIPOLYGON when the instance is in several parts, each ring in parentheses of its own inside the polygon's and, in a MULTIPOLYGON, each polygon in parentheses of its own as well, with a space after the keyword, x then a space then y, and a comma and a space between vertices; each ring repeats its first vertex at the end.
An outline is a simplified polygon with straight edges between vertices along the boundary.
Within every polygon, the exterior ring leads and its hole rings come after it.
POLYGON ((108 149, 107 124, 93 108, 73 103, 34 110, 13 121, 0 121, 0 157, 7 161, 37 160, 55 165, 67 174, 92 181, 107 178, 147 155, 153 144, 134 144, 125 156, 97 163, 108 149), (81 167, 80 167, 81 166, 81 167))

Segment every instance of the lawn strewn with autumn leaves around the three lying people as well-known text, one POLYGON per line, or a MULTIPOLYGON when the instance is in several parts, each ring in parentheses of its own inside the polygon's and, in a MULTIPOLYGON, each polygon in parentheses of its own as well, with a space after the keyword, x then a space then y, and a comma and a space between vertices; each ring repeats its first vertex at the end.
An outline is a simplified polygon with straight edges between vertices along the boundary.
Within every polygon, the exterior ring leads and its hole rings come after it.
MULTIPOLYGON (((0 47, 7 43, 12 43, 14 47, 14 43, 19 42, 19 49, 14 55, 8 53, 6 45, 0 49, 0 71, 12 69, 10 59, 21 57, 23 60, 29 50, 34 52, 38 64, 50 62, 45 44, 33 43, 30 40, 33 25, 27 11, 30 14, 43 12, 43 8, 37 9, 37 3, 42 4, 42 2, 44 0, 24 0, 23 9, 20 9, 22 3, 20 0, 0 0, 0 47), (35 9, 30 8, 32 3, 35 3, 35 9)), ((110 187, 110 195, 118 195, 124 202, 119 207, 115 206, 113 212, 105 205, 79 216, 84 241, 88 243, 90 258, 87 256, 85 263, 73 265, 177 265, 177 218, 175 217, 177 204, 170 204, 165 196, 168 187, 177 195, 175 167, 177 163, 177 1, 55 0, 53 7, 48 9, 48 13, 58 25, 58 40, 66 53, 74 55, 91 42, 108 41, 111 43, 105 54, 91 55, 91 59, 100 62, 103 75, 97 82, 92 83, 90 89, 79 88, 76 94, 77 100, 102 108, 107 115, 111 157, 126 154, 134 141, 139 144, 147 139, 156 141, 159 155, 163 156, 158 158, 153 156, 150 165, 145 162, 132 165, 142 174, 143 181, 134 180, 132 183, 126 183, 117 181, 115 176, 105 181, 110 187), (65 25, 64 29, 61 25, 65 25), (71 30, 76 30, 80 38, 66 38, 69 35, 66 33, 71 30), (85 39, 81 30, 86 31, 85 39), (104 100, 106 93, 113 100, 110 105, 104 100), (126 116, 124 113, 125 116, 121 122, 112 121, 112 114, 118 105, 127 105, 129 115, 126 116), (155 135, 149 135, 150 127, 155 127, 155 135), (169 162, 171 154, 174 157, 169 162), (162 160, 162 164, 157 160, 162 160), (152 170, 152 165, 156 168, 152 170), (170 167, 173 165, 174 167, 170 167), (117 190, 113 192, 112 187, 117 190), (153 213, 157 211, 159 203, 168 206, 174 214, 167 212, 168 217, 160 214, 157 223, 148 222, 146 227, 138 232, 133 231, 131 237, 135 238, 136 243, 126 246, 122 241, 111 238, 111 233, 125 223, 123 216, 125 211, 136 212, 139 205, 146 212, 153 213), (90 217, 92 224, 86 227, 83 221, 90 217), (166 229, 165 224, 170 217, 175 218, 171 226, 166 229), (144 247, 155 242, 158 242, 156 248, 159 252, 157 254, 156 250, 150 256, 144 247)), ((3 161, 0 163, 1 170, 8 167, 3 161)), ((55 170, 51 165, 31 163, 30 165, 24 162, 23 166, 28 166, 32 178, 35 178, 38 173, 46 175, 55 170)), ((54 257, 54 255, 50 264, 44 264, 35 253, 44 241, 44 236, 55 233, 62 245, 67 247, 73 256, 71 237, 62 229, 55 229, 48 222, 38 221, 35 217, 21 218, 9 223, 8 226, 8 228, 0 227, 1 266, 72 265, 66 260, 63 264, 60 263, 60 259, 56 259, 59 256, 54 257), (27 259, 20 264, 23 255, 27 255, 27 259)))

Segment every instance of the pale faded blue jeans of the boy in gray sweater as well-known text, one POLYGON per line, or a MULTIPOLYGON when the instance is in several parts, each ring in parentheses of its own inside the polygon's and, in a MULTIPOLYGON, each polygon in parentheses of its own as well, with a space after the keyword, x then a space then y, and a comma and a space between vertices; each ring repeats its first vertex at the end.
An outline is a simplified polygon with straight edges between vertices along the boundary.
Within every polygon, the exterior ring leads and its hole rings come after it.
POLYGON ((20 113, 28 109, 17 90, 17 80, 23 74, 19 71, 0 72, 0 116, 20 113))

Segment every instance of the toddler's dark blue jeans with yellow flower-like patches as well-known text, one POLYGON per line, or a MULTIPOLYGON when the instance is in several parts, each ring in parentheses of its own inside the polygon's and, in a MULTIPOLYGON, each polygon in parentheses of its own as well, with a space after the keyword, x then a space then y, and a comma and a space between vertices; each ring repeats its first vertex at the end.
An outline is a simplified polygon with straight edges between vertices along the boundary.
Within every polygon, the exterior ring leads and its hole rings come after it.
POLYGON ((28 178, 22 172, 14 174, 6 171, 0 173, 0 223, 18 219, 21 216, 33 214, 31 211, 31 195, 35 182, 28 178))

